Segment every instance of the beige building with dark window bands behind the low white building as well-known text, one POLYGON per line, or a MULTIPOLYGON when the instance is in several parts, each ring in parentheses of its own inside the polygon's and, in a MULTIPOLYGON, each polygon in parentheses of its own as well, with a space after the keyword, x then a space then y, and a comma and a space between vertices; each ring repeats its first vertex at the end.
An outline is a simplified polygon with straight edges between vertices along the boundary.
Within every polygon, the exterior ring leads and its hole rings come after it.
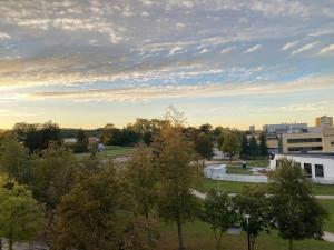
POLYGON ((334 128, 324 128, 321 133, 283 133, 281 152, 334 152, 334 128))

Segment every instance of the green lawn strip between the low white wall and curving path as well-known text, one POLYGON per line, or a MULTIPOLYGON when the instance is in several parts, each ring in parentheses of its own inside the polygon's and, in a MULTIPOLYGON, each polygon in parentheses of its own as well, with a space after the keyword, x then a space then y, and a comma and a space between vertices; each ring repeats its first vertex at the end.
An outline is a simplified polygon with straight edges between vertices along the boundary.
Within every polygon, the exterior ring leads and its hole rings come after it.
MULTIPOLYGON (((205 178, 203 174, 198 174, 194 183, 194 189, 200 192, 207 192, 210 189, 219 189, 226 192, 240 192, 245 186, 263 186, 267 187, 267 183, 248 183, 236 181, 217 181, 205 178)), ((327 194, 334 196, 334 186, 331 184, 312 184, 314 194, 327 194)))

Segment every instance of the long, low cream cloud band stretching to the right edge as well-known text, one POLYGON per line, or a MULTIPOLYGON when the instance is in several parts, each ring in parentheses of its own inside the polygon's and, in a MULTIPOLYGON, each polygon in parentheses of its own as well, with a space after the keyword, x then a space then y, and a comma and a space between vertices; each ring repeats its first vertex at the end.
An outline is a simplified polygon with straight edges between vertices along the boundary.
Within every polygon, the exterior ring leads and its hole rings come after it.
POLYGON ((106 101, 141 101, 165 98, 207 98, 207 97, 237 97, 237 96, 267 96, 295 92, 321 91, 334 89, 334 76, 308 77, 289 82, 267 83, 226 83, 205 86, 165 86, 165 87, 135 87, 102 90, 76 90, 36 92, 26 94, 28 99, 69 99, 69 100, 106 100, 106 101))

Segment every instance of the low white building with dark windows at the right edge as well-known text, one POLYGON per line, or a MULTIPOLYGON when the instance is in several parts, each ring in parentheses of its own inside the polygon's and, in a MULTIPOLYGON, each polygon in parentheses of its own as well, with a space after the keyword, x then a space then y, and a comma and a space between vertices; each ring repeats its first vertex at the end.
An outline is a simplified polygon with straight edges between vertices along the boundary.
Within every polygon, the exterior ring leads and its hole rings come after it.
POLYGON ((271 169, 275 170, 282 158, 293 160, 303 168, 313 182, 334 184, 334 153, 273 154, 271 169))

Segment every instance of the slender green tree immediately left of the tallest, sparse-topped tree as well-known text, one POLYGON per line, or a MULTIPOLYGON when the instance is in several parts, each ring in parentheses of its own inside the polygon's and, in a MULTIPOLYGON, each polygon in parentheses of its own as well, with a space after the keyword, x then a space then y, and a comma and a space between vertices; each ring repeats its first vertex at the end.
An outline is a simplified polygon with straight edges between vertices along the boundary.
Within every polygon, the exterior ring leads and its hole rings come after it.
POLYGON ((151 149, 140 144, 131 154, 126 171, 132 199, 136 201, 136 210, 145 218, 143 230, 147 232, 147 241, 154 247, 153 223, 156 221, 155 208, 157 206, 158 172, 154 164, 151 149))

